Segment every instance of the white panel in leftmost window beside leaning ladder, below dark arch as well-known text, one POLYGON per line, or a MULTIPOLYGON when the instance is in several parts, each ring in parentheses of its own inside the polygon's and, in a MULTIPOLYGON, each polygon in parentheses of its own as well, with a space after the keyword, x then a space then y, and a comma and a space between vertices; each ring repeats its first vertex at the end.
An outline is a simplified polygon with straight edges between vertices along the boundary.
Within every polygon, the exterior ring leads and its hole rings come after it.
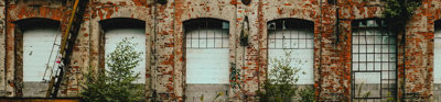
MULTIPOLYGON (((42 81, 54 42, 60 45, 60 41, 57 27, 35 26, 23 31, 23 81, 42 81)), ((55 46, 49 67, 54 67, 57 53, 58 46, 55 46)), ((50 79, 47 75, 45 79, 50 79)))

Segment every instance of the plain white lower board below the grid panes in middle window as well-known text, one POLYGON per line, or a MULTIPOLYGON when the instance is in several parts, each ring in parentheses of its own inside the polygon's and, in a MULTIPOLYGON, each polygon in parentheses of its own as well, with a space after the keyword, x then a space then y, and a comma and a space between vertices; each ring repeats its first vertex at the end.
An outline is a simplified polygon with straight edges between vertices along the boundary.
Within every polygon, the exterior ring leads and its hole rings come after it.
POLYGON ((223 49, 186 49, 186 83, 228 83, 228 54, 223 49))

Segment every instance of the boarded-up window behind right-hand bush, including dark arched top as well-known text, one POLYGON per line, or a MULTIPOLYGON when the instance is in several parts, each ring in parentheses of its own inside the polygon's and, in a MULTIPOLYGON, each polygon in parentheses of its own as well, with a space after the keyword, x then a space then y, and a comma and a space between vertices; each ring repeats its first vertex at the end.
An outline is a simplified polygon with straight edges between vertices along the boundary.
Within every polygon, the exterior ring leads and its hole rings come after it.
MULTIPOLYGON (((283 58, 284 53, 291 52, 291 66, 299 68, 298 84, 313 84, 313 22, 283 19, 268 23, 268 59, 283 58)), ((271 70, 271 61, 269 69, 271 70)))

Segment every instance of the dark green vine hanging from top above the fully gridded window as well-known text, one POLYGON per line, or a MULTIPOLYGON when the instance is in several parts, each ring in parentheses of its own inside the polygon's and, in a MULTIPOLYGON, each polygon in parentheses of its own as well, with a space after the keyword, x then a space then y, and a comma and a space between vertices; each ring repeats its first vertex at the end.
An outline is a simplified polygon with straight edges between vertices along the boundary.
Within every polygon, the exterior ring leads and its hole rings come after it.
POLYGON ((405 31, 406 22, 410 20, 415 10, 421 4, 421 0, 386 0, 386 2, 383 15, 392 32, 405 31))

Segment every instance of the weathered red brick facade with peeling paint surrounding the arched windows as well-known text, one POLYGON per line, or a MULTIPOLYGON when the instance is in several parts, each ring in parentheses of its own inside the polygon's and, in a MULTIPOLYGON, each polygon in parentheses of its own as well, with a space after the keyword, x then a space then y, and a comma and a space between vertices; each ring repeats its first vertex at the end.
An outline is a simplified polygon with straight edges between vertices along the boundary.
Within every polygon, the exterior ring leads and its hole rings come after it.
MULTIPOLYGON (((72 68, 61 97, 78 97, 82 72, 103 67, 103 29, 99 21, 129 18, 146 21, 144 77, 147 99, 185 100, 183 22, 198 18, 229 22, 229 60, 240 69, 240 89, 229 89, 230 101, 257 101, 256 91, 268 68, 267 22, 301 19, 314 22, 314 88, 320 101, 352 101, 352 22, 381 18, 383 0, 89 0, 73 52, 72 68), (249 21, 249 44, 240 46, 245 16, 249 21), (155 94, 153 94, 155 93, 155 94)), ((15 23, 31 18, 60 21, 65 30, 73 0, 0 1, 0 93, 22 95, 22 64, 15 46, 15 23)), ((397 36, 397 98, 435 101, 433 88, 434 22, 441 18, 441 2, 422 0, 397 36)))

